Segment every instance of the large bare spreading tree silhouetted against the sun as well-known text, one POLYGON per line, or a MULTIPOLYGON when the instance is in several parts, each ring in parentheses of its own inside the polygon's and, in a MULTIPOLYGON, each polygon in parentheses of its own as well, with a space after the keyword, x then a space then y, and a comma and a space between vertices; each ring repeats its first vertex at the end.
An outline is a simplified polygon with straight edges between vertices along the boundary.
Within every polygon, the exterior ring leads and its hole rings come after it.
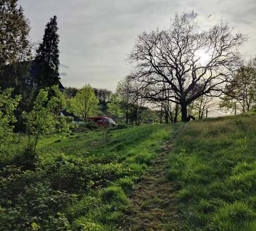
POLYGON ((192 20, 176 16, 169 29, 138 37, 128 57, 136 64, 132 78, 140 89, 150 89, 143 91, 144 98, 179 104, 182 121, 187 121, 188 104, 202 95, 221 94, 240 60, 236 49, 245 40, 223 23, 199 31, 192 20))

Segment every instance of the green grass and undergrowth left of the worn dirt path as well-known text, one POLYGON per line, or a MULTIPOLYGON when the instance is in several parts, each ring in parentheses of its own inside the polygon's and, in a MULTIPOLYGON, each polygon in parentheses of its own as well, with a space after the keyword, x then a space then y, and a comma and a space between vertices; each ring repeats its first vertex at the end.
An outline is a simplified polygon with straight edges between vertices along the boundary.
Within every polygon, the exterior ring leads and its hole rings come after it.
POLYGON ((35 171, 0 169, 0 230, 117 229, 133 184, 179 126, 43 138, 35 171))

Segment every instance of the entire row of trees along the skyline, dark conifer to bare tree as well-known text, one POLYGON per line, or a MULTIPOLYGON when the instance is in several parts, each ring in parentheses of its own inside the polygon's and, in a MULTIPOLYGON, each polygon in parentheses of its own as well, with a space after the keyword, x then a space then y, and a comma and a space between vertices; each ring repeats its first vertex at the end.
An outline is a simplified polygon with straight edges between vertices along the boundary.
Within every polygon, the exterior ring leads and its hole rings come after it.
MULTIPOLYGON (((216 107, 236 115, 255 106, 256 61, 242 60, 237 49, 247 37, 224 23, 205 31, 177 15, 169 28, 141 33, 128 56, 133 71, 112 93, 89 84, 64 89, 58 72, 57 16, 36 45, 30 42, 30 22, 18 1, 2 1, 0 10, 0 86, 21 98, 16 131, 24 131, 23 111, 32 110, 40 89, 54 85, 63 92, 58 112, 66 109, 81 120, 106 115, 125 124, 176 123, 190 116, 203 119, 216 107)), ((54 94, 50 90, 49 96, 54 94)))

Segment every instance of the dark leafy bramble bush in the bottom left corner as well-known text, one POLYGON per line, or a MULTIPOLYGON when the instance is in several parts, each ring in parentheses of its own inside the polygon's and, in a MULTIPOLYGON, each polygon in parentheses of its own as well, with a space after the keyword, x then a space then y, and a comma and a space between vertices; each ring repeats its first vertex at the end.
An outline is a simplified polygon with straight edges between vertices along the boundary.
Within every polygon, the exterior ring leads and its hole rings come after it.
POLYGON ((10 204, 1 201, 0 230, 68 230, 70 224, 60 211, 72 201, 72 195, 53 191, 47 182, 29 184, 10 204))

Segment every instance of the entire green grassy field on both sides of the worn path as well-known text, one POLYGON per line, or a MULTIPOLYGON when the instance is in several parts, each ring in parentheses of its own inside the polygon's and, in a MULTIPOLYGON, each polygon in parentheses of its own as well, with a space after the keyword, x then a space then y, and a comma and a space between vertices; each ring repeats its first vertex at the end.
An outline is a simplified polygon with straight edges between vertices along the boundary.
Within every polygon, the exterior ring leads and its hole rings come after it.
POLYGON ((166 231, 254 231, 255 133, 252 113, 88 130, 64 140, 45 136, 35 170, 20 169, 9 159, 0 171, 0 230, 129 230, 123 217, 132 227, 134 202, 141 198, 152 220, 145 220, 141 207, 136 227, 144 219, 142 226, 177 227, 161 228, 166 231), (167 166, 160 167, 166 165, 164 159, 167 166), (158 171, 165 174, 158 177, 158 171), (172 206, 167 200, 174 200, 173 211, 163 211, 162 204, 172 206), (158 213, 165 217, 154 225, 158 213), (175 215, 170 221, 169 213, 175 215))

